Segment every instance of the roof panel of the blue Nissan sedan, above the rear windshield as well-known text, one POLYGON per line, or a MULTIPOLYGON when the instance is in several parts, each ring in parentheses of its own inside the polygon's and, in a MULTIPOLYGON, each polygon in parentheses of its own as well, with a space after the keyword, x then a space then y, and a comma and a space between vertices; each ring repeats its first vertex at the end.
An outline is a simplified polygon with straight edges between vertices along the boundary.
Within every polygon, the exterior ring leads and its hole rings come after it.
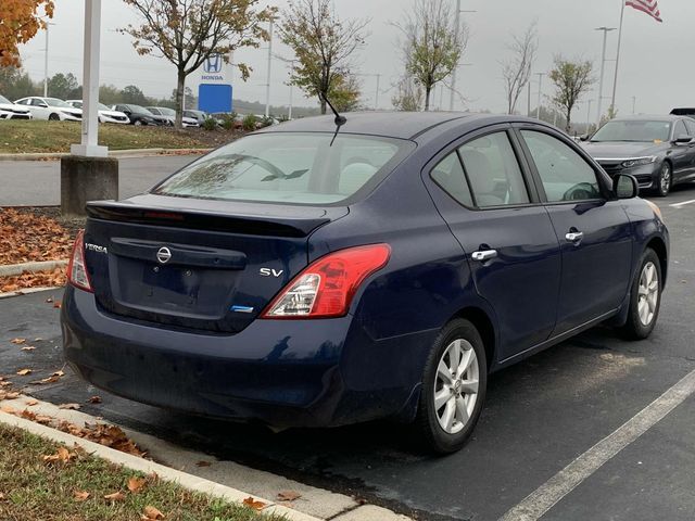
MULTIPOLYGON (((466 112, 350 112, 343 114, 348 122, 340 128, 341 132, 388 136, 392 138, 413 139, 430 128, 456 119, 480 117, 466 112)), ((282 125, 263 131, 286 132, 332 132, 336 130, 334 116, 315 116, 292 119, 282 125)))

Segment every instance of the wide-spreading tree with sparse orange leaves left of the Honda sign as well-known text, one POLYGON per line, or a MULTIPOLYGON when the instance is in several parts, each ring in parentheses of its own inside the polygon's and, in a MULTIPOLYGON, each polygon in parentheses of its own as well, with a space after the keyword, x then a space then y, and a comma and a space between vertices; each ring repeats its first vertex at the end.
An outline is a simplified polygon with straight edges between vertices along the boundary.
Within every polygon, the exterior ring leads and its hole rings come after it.
MULTIPOLYGON (((124 0, 142 18, 121 29, 139 54, 159 54, 176 65, 176 126, 181 126, 186 77, 207 59, 268 40, 265 24, 275 9, 257 9, 260 0, 124 0)), ((245 80, 250 68, 237 64, 245 80)))

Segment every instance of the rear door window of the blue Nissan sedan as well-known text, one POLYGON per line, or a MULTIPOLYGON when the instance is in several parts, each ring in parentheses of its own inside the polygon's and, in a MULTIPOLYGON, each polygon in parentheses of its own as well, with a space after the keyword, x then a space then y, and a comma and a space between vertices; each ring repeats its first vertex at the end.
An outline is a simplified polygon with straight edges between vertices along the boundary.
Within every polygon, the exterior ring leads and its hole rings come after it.
POLYGON ((506 132, 469 141, 458 153, 478 207, 529 203, 523 175, 506 132))

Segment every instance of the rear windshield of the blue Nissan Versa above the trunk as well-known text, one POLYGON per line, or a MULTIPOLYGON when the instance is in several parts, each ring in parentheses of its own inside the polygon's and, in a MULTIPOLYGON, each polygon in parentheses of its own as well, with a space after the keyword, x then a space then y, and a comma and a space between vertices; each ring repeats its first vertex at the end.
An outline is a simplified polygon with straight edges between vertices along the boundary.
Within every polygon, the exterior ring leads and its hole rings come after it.
POLYGON ((184 167, 153 193, 199 199, 332 204, 374 187, 415 147, 332 134, 258 134, 184 167))

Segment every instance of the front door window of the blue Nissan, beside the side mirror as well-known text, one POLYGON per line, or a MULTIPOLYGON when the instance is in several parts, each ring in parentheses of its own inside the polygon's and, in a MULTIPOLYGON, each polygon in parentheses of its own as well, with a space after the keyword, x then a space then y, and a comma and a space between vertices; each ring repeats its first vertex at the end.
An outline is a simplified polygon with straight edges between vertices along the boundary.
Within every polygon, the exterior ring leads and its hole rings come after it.
POLYGON ((521 130, 547 201, 601 199, 596 173, 581 155, 557 138, 534 130, 521 130))

